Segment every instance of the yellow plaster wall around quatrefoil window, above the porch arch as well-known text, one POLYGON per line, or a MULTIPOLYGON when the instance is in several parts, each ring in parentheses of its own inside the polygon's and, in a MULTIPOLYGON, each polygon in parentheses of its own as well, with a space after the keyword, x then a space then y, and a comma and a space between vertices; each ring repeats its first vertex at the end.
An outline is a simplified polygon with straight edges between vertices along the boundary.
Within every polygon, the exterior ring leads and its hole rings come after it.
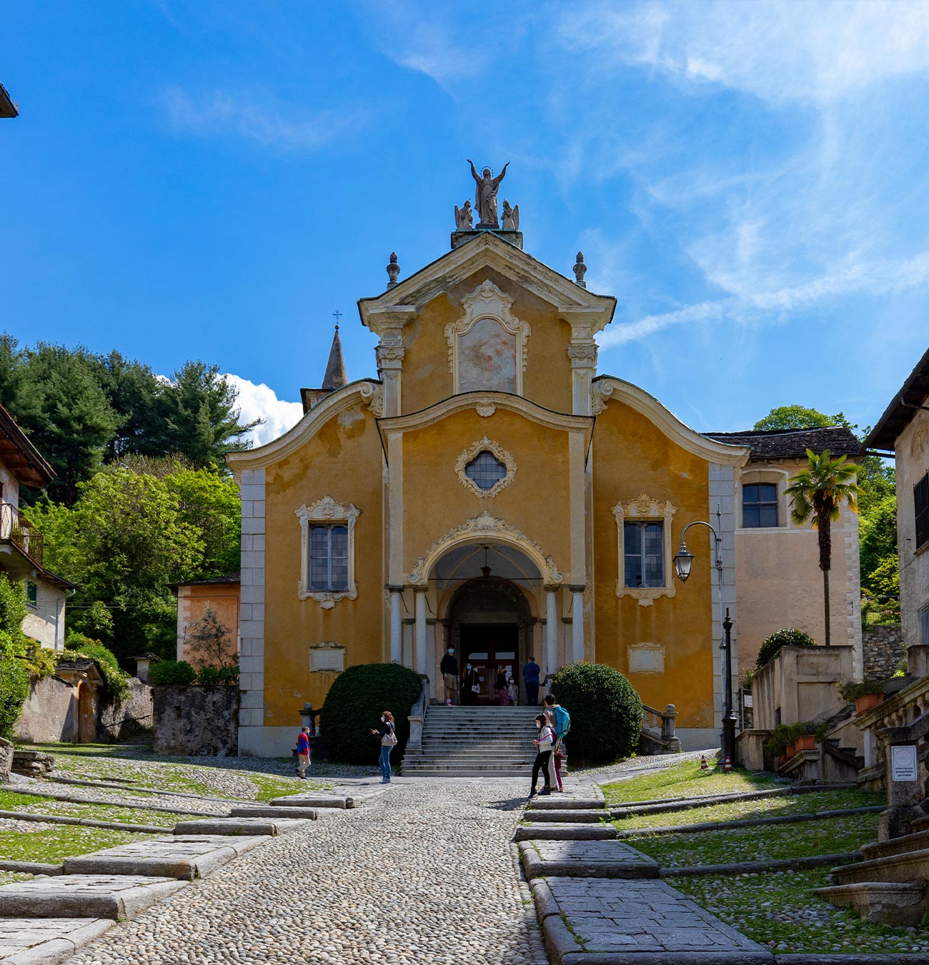
MULTIPOLYGON (((569 432, 540 426, 518 412, 497 408, 482 418, 465 409, 403 438, 404 569, 454 526, 487 510, 540 543, 562 572, 570 565, 568 516, 569 432), (492 499, 473 495, 455 463, 487 436, 513 455, 513 482, 492 499)), ((480 538, 475 541, 479 542, 480 538)))

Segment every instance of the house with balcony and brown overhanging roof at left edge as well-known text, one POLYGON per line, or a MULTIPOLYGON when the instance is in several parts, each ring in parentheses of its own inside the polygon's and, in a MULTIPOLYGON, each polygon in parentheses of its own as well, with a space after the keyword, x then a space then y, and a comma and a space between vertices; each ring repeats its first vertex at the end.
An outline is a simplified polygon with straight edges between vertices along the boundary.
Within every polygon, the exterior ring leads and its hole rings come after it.
POLYGON ((41 489, 54 479, 13 416, 0 405, 0 572, 22 582, 27 637, 54 650, 65 647, 65 600, 76 588, 44 567, 42 534, 19 512, 19 486, 41 489))

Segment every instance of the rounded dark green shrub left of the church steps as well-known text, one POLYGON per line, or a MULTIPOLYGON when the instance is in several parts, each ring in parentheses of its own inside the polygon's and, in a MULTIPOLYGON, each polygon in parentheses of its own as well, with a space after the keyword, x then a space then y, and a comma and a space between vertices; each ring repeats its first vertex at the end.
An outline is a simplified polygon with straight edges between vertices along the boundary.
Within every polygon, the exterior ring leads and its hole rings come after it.
POLYGON ((344 670, 329 688, 320 714, 325 757, 375 763, 380 746, 371 728, 380 728, 380 714, 389 710, 397 727, 393 758, 402 758, 409 739, 409 710, 421 690, 419 675, 397 664, 360 664, 344 670))

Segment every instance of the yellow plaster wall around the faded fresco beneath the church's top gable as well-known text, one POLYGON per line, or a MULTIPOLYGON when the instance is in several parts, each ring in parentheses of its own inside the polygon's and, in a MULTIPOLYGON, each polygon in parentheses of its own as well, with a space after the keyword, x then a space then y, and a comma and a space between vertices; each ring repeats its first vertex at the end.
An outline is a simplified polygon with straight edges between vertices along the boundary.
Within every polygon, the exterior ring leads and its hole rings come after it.
POLYGON ((522 395, 555 412, 571 411, 571 362, 568 358, 571 326, 559 319, 555 310, 531 291, 521 289, 510 279, 485 268, 451 287, 447 294, 436 296, 404 328, 407 350, 401 399, 404 413, 418 412, 453 394, 445 325, 464 315, 461 299, 488 279, 514 299, 511 312, 528 322, 531 328, 526 371, 522 373, 522 395))

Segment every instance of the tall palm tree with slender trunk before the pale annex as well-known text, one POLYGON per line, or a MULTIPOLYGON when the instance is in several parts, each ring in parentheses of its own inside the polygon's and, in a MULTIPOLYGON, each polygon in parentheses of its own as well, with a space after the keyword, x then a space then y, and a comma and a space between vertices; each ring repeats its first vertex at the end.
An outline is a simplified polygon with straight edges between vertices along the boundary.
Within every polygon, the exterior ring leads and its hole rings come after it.
POLYGON ((826 614, 826 646, 830 646, 829 571, 832 565, 832 521, 838 519, 843 503, 853 512, 859 511, 859 485, 855 482, 858 467, 846 464, 845 456, 830 457, 828 449, 821 455, 806 450, 809 465, 784 490, 790 496, 793 509, 790 518, 798 525, 812 517, 819 533, 819 568, 823 571, 823 608, 826 614))

